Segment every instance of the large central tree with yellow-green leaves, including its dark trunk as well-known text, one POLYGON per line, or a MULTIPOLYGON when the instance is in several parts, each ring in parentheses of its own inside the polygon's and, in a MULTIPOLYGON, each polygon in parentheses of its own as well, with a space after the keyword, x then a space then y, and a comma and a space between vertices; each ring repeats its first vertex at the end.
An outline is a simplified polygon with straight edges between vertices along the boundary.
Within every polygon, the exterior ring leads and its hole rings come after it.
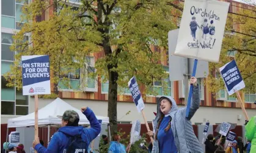
POLYGON ((169 4, 164 0, 34 0, 23 8, 23 20, 28 22, 15 35, 12 49, 18 54, 5 75, 9 86, 22 87, 21 55, 49 55, 54 93, 48 98, 58 95, 60 84, 70 86, 67 74, 77 77, 78 69, 79 88, 87 85, 87 77, 104 76, 109 80, 111 133, 116 132, 118 87, 128 87, 132 76, 147 87, 153 80, 167 77, 159 63, 166 53, 153 51, 152 45, 161 51, 167 49, 167 32, 176 29, 175 8, 169 4), (39 21, 49 9, 53 14, 39 21), (24 35, 29 35, 29 40, 24 40, 24 35), (86 63, 87 57, 97 52, 104 52, 104 56, 97 60, 94 71, 86 63))

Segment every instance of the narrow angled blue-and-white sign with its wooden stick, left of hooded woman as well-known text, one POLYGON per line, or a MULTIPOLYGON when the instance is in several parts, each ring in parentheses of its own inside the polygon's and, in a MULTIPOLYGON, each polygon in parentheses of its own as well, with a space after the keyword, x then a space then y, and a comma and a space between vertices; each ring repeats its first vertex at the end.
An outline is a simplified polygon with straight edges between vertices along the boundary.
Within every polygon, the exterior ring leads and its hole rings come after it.
MULTIPOLYGON (((142 116, 143 116, 143 119, 145 121, 147 130, 150 131, 148 123, 147 123, 147 119, 146 119, 146 116, 145 116, 145 113, 144 113, 144 110, 143 110, 145 108, 145 105, 144 105, 144 102, 143 102, 143 99, 142 99, 142 96, 141 96, 141 91, 139 91, 139 86, 137 84, 136 77, 132 77, 130 79, 130 81, 128 82, 128 86, 129 86, 130 91, 131 91, 131 96, 133 96, 133 101, 134 101, 134 103, 137 107, 137 111, 139 113, 140 112, 142 113, 142 116)), ((153 143, 153 138, 152 137, 150 137, 150 140, 153 143)))

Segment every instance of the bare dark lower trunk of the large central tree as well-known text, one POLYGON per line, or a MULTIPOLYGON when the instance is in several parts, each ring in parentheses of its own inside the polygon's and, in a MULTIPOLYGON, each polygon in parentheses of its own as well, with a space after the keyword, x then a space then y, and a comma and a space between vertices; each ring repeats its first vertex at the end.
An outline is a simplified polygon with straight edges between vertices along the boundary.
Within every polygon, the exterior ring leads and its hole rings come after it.
POLYGON ((117 67, 115 65, 108 65, 109 73, 109 93, 108 93, 108 116, 109 125, 111 127, 111 135, 117 132, 117 79, 119 77, 118 73, 110 70, 112 67, 117 67))

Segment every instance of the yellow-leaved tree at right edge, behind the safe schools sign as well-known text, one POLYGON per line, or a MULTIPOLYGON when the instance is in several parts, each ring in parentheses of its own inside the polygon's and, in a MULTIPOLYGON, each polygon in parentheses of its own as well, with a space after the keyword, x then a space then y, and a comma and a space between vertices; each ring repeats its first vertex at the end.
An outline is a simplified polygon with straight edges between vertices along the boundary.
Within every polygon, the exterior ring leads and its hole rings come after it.
POLYGON ((248 4, 238 12, 229 12, 219 63, 210 63, 210 90, 224 89, 219 68, 235 59, 246 84, 244 91, 256 93, 256 5, 248 4), (214 73, 217 72, 217 73, 214 73), (217 74, 217 76, 216 76, 217 74), (220 79, 216 79, 219 77, 220 79))

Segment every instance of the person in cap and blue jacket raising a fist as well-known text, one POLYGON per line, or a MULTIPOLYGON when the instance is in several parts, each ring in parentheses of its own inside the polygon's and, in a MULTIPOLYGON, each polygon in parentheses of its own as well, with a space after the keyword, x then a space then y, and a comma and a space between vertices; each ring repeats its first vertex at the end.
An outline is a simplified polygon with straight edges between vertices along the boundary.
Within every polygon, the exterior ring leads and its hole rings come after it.
POLYGON ((89 107, 82 107, 81 112, 86 115, 86 118, 89 120, 90 128, 78 126, 78 113, 74 110, 66 110, 63 116, 58 116, 59 118, 62 118, 62 127, 59 128, 58 132, 54 133, 48 148, 46 149, 40 144, 39 138, 34 140, 33 148, 35 148, 38 153, 64 153, 70 146, 70 139, 80 135, 82 141, 86 143, 85 148, 88 149, 90 142, 100 133, 101 126, 95 114, 89 107))

